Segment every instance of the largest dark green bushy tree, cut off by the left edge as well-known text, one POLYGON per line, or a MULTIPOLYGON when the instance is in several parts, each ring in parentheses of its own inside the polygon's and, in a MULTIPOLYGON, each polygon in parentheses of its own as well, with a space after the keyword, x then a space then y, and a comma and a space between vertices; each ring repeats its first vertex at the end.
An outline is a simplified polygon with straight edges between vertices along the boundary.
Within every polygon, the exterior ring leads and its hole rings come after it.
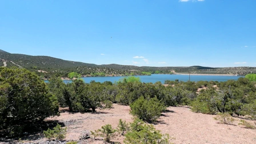
POLYGON ((6 134, 22 134, 32 124, 58 115, 57 98, 35 73, 3 67, 0 68, 0 83, 0 129, 6 134))

